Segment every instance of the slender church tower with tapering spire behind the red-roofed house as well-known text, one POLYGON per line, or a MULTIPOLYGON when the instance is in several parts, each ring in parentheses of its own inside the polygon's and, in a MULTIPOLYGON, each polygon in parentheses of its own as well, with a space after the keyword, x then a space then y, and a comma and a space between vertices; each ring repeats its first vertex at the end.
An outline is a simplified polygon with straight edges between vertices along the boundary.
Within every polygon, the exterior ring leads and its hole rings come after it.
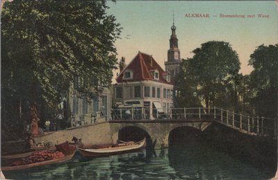
POLYGON ((170 75, 170 79, 173 82, 179 71, 179 64, 181 63, 181 53, 179 51, 178 39, 176 35, 176 26, 174 26, 174 16, 173 16, 173 26, 171 27, 172 35, 170 36, 170 49, 167 53, 167 62, 165 62, 165 71, 170 75))

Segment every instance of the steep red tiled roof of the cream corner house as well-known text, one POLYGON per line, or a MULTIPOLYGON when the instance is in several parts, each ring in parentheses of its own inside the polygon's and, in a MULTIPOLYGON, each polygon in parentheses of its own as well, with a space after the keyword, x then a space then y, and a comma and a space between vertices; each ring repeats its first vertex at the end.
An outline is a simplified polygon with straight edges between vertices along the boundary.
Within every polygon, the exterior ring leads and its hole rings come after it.
MULTIPOLYGON (((166 73, 167 74, 167 73, 166 73)), ((126 66, 126 68, 117 76, 117 82, 134 82, 140 80, 154 80, 158 82, 163 82, 167 84, 172 84, 171 82, 167 82, 163 78, 165 75, 165 71, 158 65, 158 63, 154 60, 152 55, 147 55, 145 53, 141 53, 140 51, 134 57, 134 59, 126 66), (129 80, 124 80, 123 75, 124 71, 131 70, 133 71, 133 78, 129 80), (152 71, 157 70, 159 72, 159 80, 154 79, 152 76, 152 71)))

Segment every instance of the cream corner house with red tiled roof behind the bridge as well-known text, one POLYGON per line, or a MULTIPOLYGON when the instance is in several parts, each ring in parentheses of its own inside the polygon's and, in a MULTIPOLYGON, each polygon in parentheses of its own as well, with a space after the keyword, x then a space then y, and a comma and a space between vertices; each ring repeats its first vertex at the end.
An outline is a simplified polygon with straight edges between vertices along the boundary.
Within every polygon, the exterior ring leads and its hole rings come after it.
POLYGON ((157 118, 172 107, 173 84, 152 55, 138 52, 120 72, 113 85, 113 103, 117 107, 136 105, 147 109, 146 117, 157 118))

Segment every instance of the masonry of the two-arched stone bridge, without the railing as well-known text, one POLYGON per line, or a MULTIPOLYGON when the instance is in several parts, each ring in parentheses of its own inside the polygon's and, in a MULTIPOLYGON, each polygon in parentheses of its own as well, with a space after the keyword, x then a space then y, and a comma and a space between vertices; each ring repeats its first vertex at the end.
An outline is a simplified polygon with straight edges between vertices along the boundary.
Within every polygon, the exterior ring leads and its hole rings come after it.
MULTIPOLYGON (((118 120, 83 125, 58 132, 34 137, 36 142, 51 141, 54 144, 72 141, 72 137, 82 138, 85 144, 117 143, 119 133, 125 128, 136 127, 141 134, 145 134, 152 142, 156 140, 156 147, 167 147, 170 132, 177 127, 193 127, 204 131, 211 125, 211 120, 118 120)), ((130 134, 136 136, 136 134, 130 134)))

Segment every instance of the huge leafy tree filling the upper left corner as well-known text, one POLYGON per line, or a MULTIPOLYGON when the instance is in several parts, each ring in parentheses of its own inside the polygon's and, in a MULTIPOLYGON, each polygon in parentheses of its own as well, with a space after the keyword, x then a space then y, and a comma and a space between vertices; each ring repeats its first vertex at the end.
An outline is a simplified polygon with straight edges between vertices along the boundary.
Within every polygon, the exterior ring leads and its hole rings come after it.
MULTIPOLYGON (((111 82, 120 25, 106 1, 13 1, 1 16, 1 88, 8 107, 41 101, 54 107, 78 77, 81 96, 111 82), (23 103, 23 104, 24 104, 23 103), (8 105, 9 104, 9 105, 8 105)), ((42 103, 40 103, 42 104, 42 103)), ((7 110, 7 109, 6 109, 7 110)))

